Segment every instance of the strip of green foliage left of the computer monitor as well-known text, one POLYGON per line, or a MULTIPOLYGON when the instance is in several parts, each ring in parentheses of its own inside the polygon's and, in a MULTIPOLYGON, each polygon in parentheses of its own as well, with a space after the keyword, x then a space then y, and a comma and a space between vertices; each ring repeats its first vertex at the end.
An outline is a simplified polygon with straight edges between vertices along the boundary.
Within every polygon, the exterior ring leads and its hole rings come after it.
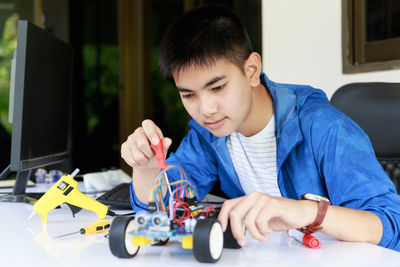
POLYGON ((3 36, 0 40, 0 124, 11 133, 8 122, 8 101, 10 91, 10 72, 13 51, 17 48, 18 14, 7 18, 3 36))

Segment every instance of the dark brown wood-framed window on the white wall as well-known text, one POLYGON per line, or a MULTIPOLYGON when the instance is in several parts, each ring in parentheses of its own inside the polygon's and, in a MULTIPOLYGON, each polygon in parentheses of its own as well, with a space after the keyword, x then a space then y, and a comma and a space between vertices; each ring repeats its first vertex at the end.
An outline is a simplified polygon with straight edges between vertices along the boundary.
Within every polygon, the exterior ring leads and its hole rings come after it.
POLYGON ((400 1, 343 0, 343 71, 400 68, 400 1))

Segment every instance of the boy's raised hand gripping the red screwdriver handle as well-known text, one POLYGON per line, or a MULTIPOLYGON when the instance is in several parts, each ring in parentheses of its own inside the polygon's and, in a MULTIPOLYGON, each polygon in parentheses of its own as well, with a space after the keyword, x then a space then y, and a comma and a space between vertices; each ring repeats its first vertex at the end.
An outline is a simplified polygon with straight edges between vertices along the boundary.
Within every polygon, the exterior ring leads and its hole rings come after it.
POLYGON ((151 120, 144 120, 142 127, 137 128, 121 146, 121 157, 125 162, 135 169, 158 169, 154 152, 150 147, 150 142, 157 145, 161 138, 164 147, 164 155, 167 154, 172 140, 163 137, 158 126, 151 120))

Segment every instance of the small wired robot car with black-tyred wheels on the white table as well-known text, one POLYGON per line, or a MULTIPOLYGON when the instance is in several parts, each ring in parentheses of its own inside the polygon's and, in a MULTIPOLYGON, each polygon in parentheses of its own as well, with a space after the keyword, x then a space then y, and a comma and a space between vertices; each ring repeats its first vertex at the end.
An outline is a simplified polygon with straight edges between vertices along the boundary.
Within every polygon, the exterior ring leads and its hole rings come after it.
POLYGON ((110 228, 109 246, 118 258, 136 256, 141 246, 165 245, 169 239, 178 239, 182 248, 192 249, 199 262, 214 263, 223 248, 240 248, 230 227, 223 232, 218 222, 218 207, 207 209, 197 202, 196 189, 187 181, 182 169, 168 166, 161 171, 150 194, 149 208, 134 217, 116 217, 110 228), (162 183, 165 172, 177 168, 181 180, 162 183), (163 199, 163 188, 169 191, 168 205, 163 199))

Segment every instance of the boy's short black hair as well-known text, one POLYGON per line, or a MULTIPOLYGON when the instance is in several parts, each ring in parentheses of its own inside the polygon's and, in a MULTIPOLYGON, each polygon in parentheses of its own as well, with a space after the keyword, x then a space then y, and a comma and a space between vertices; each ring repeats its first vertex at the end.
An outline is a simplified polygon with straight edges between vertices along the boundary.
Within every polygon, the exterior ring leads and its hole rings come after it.
POLYGON ((210 5, 184 13, 173 22, 161 42, 159 65, 165 77, 189 66, 203 67, 226 59, 244 72, 253 52, 240 19, 230 10, 210 5))

